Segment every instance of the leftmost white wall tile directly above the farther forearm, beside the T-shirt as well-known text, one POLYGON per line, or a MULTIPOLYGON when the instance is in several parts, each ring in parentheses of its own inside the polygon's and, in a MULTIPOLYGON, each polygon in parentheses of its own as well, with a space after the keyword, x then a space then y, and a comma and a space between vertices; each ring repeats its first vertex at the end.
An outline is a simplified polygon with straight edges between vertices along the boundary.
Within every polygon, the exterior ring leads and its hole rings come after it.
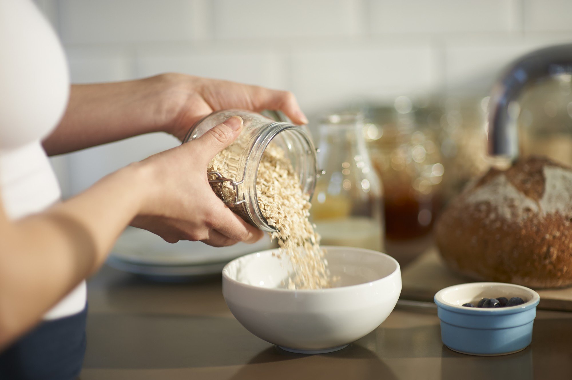
POLYGON ((109 82, 133 78, 133 59, 127 52, 108 49, 66 49, 72 83, 109 82))

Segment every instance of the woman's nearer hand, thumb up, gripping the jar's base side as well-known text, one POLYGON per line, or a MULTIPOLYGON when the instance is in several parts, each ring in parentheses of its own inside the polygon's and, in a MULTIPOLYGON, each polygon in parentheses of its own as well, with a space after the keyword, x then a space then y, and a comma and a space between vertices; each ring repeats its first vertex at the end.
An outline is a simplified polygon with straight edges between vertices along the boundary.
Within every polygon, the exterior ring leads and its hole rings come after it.
POLYGON ((134 227, 168 242, 202 241, 212 246, 255 242, 263 232, 240 219, 212 191, 206 165, 240 134, 233 116, 200 138, 134 164, 148 183, 134 227))

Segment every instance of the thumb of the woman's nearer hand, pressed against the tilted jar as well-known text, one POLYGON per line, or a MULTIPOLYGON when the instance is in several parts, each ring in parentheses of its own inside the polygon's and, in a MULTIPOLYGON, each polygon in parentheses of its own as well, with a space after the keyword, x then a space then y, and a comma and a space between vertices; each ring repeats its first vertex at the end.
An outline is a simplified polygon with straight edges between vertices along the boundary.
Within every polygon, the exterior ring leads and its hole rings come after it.
POLYGON ((193 140, 193 149, 200 151, 200 155, 209 163, 224 148, 228 147, 238 135, 243 126, 240 116, 232 116, 223 123, 210 128, 200 138, 193 140))

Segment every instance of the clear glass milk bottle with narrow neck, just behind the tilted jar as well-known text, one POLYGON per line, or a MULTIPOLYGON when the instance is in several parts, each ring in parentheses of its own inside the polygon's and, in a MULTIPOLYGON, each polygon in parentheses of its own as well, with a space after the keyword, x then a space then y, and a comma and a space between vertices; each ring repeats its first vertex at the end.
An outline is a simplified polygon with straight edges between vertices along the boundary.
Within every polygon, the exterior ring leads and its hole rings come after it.
POLYGON ((360 114, 327 116, 319 127, 311 215, 322 245, 382 250, 382 187, 372 168, 360 114))

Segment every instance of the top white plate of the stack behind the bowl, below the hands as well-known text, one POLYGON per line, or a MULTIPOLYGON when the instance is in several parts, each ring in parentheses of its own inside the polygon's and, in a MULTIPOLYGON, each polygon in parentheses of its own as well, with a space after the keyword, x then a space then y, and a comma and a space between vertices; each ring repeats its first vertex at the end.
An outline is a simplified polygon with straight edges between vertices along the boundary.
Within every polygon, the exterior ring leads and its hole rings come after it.
MULTIPOLYGON (((170 244, 154 233, 129 227, 118 238, 110 258, 147 266, 197 266, 220 264, 247 253, 275 247, 275 243, 271 242, 267 234, 255 244, 237 243, 232 246, 215 248, 200 241, 179 241, 170 244)), ((132 271, 129 270, 129 272, 132 271)))

